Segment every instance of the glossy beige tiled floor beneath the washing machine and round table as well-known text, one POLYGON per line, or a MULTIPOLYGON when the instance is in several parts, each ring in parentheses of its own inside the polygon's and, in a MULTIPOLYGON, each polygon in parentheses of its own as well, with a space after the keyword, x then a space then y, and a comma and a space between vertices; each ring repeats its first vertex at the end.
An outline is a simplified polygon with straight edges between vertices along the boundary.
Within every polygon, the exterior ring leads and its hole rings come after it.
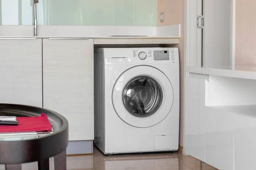
MULTIPOLYGON (((54 170, 50 159, 50 169, 54 170)), ((37 162, 23 164, 23 170, 37 170, 37 162)), ((93 155, 68 156, 68 170, 216 170, 191 156, 180 153, 147 153, 104 156, 94 148, 93 155)), ((1 166, 0 170, 4 170, 1 166)))

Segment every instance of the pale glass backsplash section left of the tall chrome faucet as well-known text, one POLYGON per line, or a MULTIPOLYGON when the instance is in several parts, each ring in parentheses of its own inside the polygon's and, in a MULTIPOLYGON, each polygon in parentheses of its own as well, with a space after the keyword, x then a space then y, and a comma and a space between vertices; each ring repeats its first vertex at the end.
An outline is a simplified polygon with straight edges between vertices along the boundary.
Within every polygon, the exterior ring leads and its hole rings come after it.
POLYGON ((33 25, 31 0, 0 0, 0 25, 33 25))

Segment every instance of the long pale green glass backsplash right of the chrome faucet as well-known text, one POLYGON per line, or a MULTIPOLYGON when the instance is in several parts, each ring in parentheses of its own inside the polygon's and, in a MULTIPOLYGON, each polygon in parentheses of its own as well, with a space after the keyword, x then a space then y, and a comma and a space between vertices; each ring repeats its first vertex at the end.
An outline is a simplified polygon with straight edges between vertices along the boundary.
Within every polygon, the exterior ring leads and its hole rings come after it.
POLYGON ((157 26, 157 0, 39 0, 46 26, 157 26))

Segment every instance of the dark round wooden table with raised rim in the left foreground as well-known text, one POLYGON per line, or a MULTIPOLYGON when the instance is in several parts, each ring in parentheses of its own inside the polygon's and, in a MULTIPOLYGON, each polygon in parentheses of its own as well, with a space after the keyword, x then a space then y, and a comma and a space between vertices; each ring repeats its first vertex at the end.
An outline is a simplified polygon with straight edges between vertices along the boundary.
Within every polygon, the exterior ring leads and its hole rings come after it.
POLYGON ((47 115, 52 132, 0 133, 0 164, 6 170, 21 170, 22 163, 38 161, 38 170, 49 170, 54 156, 55 170, 66 170, 68 121, 54 111, 27 105, 0 104, 0 116, 32 117, 47 115))

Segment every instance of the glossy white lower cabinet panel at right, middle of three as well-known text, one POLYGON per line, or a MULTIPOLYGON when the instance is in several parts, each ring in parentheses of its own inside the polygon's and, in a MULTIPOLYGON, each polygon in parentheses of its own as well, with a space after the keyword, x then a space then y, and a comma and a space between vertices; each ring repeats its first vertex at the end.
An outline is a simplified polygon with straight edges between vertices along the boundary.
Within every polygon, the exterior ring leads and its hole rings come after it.
POLYGON ((219 170, 233 170, 233 113, 206 107, 205 162, 219 170))

